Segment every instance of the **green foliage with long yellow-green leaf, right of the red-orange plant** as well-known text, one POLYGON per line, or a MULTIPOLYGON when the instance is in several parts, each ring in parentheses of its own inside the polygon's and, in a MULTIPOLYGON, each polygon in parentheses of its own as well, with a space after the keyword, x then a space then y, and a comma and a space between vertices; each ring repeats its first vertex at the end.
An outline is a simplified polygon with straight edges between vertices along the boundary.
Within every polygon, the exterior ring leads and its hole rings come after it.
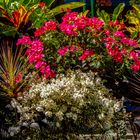
POLYGON ((70 2, 67 4, 61 4, 56 7, 52 7, 54 2, 59 3, 60 1, 59 2, 58 0, 45 1, 46 5, 44 6, 42 5, 40 9, 34 12, 33 27, 39 28, 42 25, 42 23, 50 19, 54 19, 56 15, 66 12, 67 9, 75 9, 85 5, 85 3, 83 2, 70 2))

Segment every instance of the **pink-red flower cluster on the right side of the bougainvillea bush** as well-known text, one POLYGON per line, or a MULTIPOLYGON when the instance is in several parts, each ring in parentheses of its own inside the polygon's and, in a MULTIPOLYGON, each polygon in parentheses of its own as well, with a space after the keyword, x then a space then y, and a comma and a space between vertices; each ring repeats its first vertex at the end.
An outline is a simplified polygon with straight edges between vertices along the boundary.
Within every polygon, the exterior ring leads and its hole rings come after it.
POLYGON ((129 62, 130 61, 129 56, 130 56, 134 61, 134 64, 131 65, 131 68, 134 71, 138 71, 138 64, 139 64, 138 56, 134 55, 134 52, 133 55, 132 52, 130 53, 130 55, 128 55, 129 50, 126 50, 128 48, 130 50, 133 50, 133 47, 137 48, 138 42, 128 38, 124 34, 123 30, 120 30, 125 27, 123 23, 119 23, 119 21, 115 21, 115 22, 110 21, 108 25, 113 27, 113 30, 114 28, 116 28, 116 30, 113 32, 111 32, 109 29, 104 30, 104 34, 106 35, 106 37, 103 39, 103 41, 105 42, 107 53, 116 62, 123 62, 124 57, 126 57, 127 61, 129 62))

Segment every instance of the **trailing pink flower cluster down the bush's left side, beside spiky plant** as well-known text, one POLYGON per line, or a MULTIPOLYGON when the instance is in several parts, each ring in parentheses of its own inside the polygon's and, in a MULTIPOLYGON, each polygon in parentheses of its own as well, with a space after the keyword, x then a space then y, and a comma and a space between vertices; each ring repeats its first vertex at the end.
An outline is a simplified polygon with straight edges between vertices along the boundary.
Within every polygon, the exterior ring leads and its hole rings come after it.
POLYGON ((26 51, 26 55, 28 57, 29 63, 32 63, 35 65, 35 68, 38 69, 46 78, 53 78, 55 77, 54 70, 51 70, 50 65, 47 65, 47 63, 43 60, 44 54, 43 54, 43 44, 42 42, 38 40, 32 40, 26 36, 30 40, 30 43, 28 41, 25 42, 25 36, 20 38, 17 42, 17 45, 28 45, 28 49, 26 51), (28 44, 29 43, 29 44, 28 44))

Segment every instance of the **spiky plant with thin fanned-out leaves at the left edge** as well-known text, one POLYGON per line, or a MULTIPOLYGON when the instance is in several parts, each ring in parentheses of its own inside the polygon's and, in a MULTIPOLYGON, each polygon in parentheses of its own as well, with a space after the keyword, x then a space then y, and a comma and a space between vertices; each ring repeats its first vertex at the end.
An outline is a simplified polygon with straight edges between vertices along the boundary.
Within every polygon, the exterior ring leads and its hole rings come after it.
POLYGON ((0 89, 11 97, 16 97, 28 89, 31 65, 24 58, 25 49, 16 47, 13 41, 0 44, 0 89))

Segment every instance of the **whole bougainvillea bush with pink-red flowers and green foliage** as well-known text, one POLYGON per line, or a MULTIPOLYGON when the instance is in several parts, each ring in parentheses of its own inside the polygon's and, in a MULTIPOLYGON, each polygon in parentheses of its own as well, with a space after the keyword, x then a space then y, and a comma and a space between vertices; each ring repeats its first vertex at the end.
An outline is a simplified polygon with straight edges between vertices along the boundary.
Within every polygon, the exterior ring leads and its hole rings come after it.
POLYGON ((29 63, 46 78, 68 68, 138 72, 140 69, 137 40, 126 32, 123 21, 109 21, 97 17, 68 12, 62 22, 45 22, 34 37, 22 36, 17 46, 27 47, 29 63))

